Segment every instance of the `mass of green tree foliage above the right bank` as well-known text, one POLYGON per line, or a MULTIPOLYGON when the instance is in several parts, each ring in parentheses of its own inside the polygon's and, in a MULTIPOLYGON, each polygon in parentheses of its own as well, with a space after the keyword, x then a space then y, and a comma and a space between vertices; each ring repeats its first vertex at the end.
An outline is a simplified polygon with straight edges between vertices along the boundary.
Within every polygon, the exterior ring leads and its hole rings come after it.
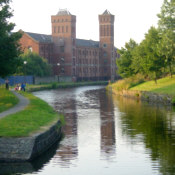
POLYGON ((154 80, 175 71, 175 1, 164 0, 158 28, 151 27, 140 44, 130 39, 120 51, 118 73, 123 78, 143 74, 154 80))

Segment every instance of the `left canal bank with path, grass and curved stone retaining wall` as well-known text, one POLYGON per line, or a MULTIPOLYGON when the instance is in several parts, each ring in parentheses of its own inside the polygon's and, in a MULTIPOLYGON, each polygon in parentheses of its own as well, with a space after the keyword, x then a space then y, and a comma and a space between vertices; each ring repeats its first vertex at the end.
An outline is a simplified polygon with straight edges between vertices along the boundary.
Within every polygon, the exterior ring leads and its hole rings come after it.
POLYGON ((1 113, 0 162, 32 160, 61 139, 61 114, 31 94, 13 93, 19 103, 1 113))

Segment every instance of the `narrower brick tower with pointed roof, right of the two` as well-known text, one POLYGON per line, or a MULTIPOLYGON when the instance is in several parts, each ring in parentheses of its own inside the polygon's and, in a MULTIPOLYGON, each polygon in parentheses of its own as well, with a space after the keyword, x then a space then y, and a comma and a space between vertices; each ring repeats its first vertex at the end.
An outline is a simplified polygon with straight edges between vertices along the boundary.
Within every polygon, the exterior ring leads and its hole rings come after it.
POLYGON ((100 34, 100 74, 102 79, 114 80, 115 53, 114 53, 114 15, 105 10, 99 15, 100 34))

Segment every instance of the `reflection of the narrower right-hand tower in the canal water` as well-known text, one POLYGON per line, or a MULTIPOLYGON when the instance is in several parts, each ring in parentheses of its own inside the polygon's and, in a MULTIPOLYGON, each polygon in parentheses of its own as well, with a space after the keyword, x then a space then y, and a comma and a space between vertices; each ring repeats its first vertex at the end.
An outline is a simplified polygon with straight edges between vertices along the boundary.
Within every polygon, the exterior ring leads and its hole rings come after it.
POLYGON ((100 117, 101 117, 101 152, 110 157, 115 155, 115 121, 112 98, 106 93, 101 93, 100 117))

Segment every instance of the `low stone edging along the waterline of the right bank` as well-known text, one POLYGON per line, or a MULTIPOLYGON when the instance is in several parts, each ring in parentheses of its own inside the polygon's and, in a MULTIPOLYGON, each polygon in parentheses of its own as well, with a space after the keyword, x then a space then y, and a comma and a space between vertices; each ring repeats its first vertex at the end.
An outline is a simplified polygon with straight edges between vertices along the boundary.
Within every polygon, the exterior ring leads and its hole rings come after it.
POLYGON ((116 91, 112 89, 112 87, 111 91, 117 95, 133 99, 139 99, 142 101, 147 101, 149 103, 161 103, 164 105, 172 105, 173 97, 167 94, 158 94, 148 91, 130 91, 130 90, 116 91))

